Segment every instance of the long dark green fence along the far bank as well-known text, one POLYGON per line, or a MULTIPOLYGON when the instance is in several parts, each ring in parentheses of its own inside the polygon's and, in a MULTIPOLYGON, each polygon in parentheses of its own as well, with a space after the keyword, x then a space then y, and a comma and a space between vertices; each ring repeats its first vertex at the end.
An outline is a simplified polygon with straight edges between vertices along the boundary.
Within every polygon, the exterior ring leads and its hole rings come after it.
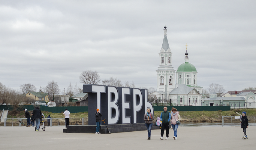
MULTIPOLYGON (((78 112, 88 112, 88 106, 68 106, 68 107, 48 107, 48 106, 38 106, 40 110, 52 113, 61 113, 64 112, 65 109, 69 110, 70 113, 78 113, 78 112)), ((168 110, 171 111, 172 107, 175 107, 178 111, 228 111, 230 110, 230 106, 166 106, 168 110)), ((32 111, 34 109, 33 105, 22 105, 18 110, 27 109, 32 111)), ((4 105, 0 106, 0 110, 13 110, 12 106, 4 105)), ((154 111, 163 111, 163 106, 154 106, 154 111)))

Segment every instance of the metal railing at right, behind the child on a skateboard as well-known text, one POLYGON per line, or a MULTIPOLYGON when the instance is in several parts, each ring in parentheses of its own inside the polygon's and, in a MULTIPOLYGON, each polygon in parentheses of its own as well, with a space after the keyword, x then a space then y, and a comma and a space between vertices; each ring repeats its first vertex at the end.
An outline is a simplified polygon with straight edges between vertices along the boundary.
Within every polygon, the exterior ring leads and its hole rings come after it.
MULTIPOLYGON (((240 118, 236 119, 239 116, 222 116, 222 126, 233 126, 240 124, 240 118)), ((241 116, 240 116, 241 117, 241 116)), ((256 117, 247 117, 249 126, 256 126, 256 117)))

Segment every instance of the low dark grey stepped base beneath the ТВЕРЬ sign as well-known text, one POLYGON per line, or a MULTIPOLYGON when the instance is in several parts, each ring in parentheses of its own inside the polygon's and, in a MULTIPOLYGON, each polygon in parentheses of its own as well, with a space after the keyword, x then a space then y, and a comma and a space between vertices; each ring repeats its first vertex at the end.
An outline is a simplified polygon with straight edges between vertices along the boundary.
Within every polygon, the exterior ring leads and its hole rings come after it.
MULTIPOLYGON (((132 132, 132 131, 144 131, 147 130, 145 124, 122 124, 122 125, 108 125, 108 129, 111 133, 119 132, 132 132)), ((108 129, 105 125, 100 126, 100 133, 108 134, 108 129)), ((160 129, 156 123, 153 123, 151 130, 160 129)), ((64 133, 95 133, 96 125, 70 125, 66 129, 63 129, 64 133)))

